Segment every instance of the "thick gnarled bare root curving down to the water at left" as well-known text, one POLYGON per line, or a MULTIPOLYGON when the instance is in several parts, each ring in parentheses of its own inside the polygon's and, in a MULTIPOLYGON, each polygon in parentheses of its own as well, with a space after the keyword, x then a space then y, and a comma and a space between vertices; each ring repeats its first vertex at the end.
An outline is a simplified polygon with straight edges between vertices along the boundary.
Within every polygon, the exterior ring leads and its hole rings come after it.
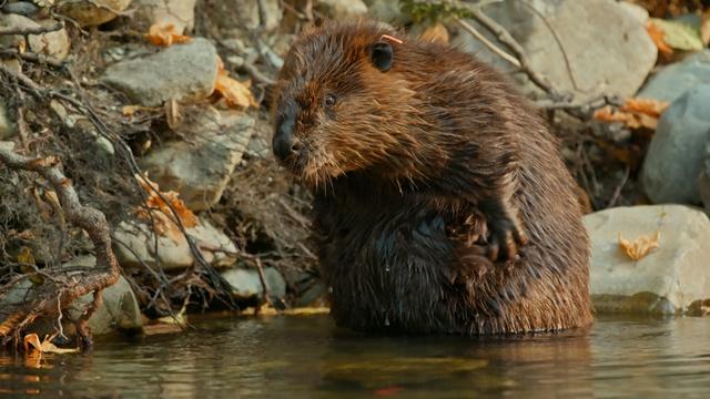
POLYGON ((121 276, 119 264, 111 248, 110 229, 103 213, 79 202, 71 181, 60 171, 60 162, 54 156, 30 158, 0 147, 0 163, 14 171, 36 172, 55 190, 67 219, 83 228, 94 246, 97 266, 88 272, 61 274, 53 280, 36 286, 33 299, 22 304, 0 323, 0 340, 11 339, 17 345, 22 329, 40 316, 58 316, 74 299, 93 293, 94 298, 80 317, 77 330, 84 346, 91 345, 91 334, 87 321, 101 304, 101 290, 115 284, 121 276))

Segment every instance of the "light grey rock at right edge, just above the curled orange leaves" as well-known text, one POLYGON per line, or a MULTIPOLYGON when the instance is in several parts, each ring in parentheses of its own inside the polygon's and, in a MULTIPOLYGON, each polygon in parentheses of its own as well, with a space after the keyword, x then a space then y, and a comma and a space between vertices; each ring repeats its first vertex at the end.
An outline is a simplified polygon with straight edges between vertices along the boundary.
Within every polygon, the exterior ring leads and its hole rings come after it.
POLYGON ((673 102, 700 84, 710 84, 710 50, 663 68, 649 80, 638 96, 673 102))

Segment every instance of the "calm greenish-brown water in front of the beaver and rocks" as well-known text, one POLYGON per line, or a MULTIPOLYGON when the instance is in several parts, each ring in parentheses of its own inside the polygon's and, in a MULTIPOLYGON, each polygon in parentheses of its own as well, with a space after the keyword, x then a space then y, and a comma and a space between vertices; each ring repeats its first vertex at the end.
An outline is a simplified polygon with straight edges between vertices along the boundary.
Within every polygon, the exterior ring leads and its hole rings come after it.
POLYGON ((587 332, 369 337, 326 316, 196 321, 41 365, 0 355, 0 395, 72 398, 709 398, 710 318, 599 319, 587 332))

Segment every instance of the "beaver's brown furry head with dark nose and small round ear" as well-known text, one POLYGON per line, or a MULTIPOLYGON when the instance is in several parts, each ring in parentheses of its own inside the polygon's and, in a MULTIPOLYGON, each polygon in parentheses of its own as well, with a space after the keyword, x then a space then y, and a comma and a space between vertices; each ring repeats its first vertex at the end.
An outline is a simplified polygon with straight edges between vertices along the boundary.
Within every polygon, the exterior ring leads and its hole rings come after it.
POLYGON ((406 167, 416 157, 407 125, 416 117, 414 91, 397 65, 406 43, 395 35, 375 23, 326 23, 291 48, 278 79, 273 150, 308 186, 406 167))

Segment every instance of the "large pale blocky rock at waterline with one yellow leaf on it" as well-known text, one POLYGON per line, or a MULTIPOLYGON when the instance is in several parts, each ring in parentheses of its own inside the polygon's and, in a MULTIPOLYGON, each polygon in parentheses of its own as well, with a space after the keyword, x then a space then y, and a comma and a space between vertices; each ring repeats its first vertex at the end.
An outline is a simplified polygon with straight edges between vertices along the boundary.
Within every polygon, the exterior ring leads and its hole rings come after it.
POLYGON ((590 293, 598 313, 683 313, 710 298, 710 221, 682 205, 618 207, 585 216, 591 247, 590 293), (635 262, 626 239, 660 232, 659 247, 635 262))

